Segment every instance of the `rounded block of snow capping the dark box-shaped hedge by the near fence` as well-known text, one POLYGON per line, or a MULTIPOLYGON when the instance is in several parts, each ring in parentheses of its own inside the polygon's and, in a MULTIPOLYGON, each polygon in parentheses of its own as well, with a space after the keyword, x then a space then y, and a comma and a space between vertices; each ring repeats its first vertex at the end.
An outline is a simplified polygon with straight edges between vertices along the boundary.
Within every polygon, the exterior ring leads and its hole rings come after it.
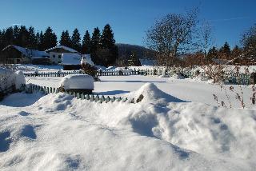
POLYGON ((70 74, 59 84, 64 89, 94 89, 94 78, 87 74, 70 74))

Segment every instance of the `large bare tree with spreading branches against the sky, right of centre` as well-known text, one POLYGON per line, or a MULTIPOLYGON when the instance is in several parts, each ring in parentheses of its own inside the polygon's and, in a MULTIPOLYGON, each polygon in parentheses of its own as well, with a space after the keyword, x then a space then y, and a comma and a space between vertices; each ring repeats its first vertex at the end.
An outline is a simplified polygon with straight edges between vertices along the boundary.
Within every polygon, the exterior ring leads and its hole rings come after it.
POLYGON ((158 65, 174 65, 179 54, 189 50, 198 18, 198 9, 186 14, 167 14, 146 32, 146 45, 157 51, 158 65))

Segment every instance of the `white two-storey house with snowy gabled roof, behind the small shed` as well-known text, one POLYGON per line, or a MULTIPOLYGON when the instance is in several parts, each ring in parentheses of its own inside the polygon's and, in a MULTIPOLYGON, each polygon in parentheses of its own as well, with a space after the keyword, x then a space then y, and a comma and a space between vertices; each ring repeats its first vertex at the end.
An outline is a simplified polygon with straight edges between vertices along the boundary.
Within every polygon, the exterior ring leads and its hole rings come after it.
POLYGON ((53 65, 57 65, 62 64, 63 53, 78 54, 78 51, 66 46, 55 46, 49 50, 46 50, 46 53, 50 54, 50 62, 53 65))

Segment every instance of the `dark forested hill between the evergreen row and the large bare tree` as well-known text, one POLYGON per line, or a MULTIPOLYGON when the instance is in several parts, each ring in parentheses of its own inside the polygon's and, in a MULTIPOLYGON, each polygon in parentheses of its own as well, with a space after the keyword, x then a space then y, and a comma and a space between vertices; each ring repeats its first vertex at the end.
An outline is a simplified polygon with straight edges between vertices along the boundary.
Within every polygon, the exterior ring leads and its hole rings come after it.
POLYGON ((154 51, 138 45, 117 43, 119 57, 129 58, 135 52, 139 59, 154 59, 154 51))

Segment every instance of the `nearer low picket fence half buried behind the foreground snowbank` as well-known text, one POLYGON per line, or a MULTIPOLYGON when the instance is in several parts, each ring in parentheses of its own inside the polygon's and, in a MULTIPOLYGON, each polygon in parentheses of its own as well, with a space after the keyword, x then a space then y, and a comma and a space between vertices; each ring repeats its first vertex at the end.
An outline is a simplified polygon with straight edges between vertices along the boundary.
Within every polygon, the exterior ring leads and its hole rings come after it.
MULTIPOLYGON (((46 87, 46 86, 39 86, 39 85, 22 85, 21 90, 26 93, 59 93, 60 90, 58 88, 52 88, 52 87, 46 87)), ((65 93, 70 94, 71 96, 77 97, 78 99, 87 100, 87 101, 94 101, 94 102, 100 102, 100 103, 108 103, 108 102, 130 102, 135 103, 134 98, 131 100, 128 100, 127 97, 105 97, 104 95, 98 95, 98 94, 88 94, 88 93, 77 93, 74 91, 66 90, 65 93)))

